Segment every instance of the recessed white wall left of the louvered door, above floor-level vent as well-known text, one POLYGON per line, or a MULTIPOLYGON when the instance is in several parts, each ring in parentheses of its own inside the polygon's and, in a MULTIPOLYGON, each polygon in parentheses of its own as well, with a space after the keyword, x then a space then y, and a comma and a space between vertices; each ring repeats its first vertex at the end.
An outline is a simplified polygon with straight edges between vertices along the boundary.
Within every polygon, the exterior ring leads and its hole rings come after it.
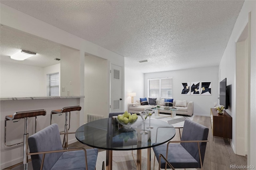
POLYGON ((86 55, 84 59, 84 122, 87 114, 102 115, 109 113, 109 70, 108 60, 86 55))

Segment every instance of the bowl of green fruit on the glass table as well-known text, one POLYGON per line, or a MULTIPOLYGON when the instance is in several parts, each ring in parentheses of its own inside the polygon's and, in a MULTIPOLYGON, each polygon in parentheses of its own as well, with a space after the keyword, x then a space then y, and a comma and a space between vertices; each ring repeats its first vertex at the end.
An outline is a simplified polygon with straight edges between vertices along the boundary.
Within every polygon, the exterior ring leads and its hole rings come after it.
POLYGON ((130 127, 132 124, 134 124, 137 121, 138 116, 136 113, 131 114, 131 113, 128 113, 128 111, 125 111, 124 114, 118 115, 116 119, 119 124, 123 125, 123 127, 130 127))

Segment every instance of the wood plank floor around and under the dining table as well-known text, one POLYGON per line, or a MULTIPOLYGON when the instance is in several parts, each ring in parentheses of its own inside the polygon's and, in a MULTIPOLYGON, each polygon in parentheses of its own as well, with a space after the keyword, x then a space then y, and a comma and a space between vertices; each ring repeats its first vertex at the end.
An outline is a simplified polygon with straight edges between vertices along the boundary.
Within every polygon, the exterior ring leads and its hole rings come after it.
MULTIPOLYGON (((206 145, 206 153, 205 153, 204 165, 203 165, 204 170, 231 170, 230 165, 237 165, 237 166, 247 165, 247 157, 234 154, 228 140, 214 137, 214 141, 213 141, 210 117, 194 116, 193 121, 200 123, 201 125, 204 125, 209 128, 209 134, 208 134, 209 142, 206 145)), ((177 140, 179 138, 180 137, 177 131, 176 136, 172 140, 177 140)), ((69 144, 69 148, 81 148, 81 147, 90 148, 88 146, 84 146, 80 142, 69 144)), ((102 152, 102 151, 103 150, 99 150, 99 152, 102 152)), ((113 153, 113 156, 114 156, 114 153, 113 153)), ((151 166, 153 166, 154 154, 152 154, 151 159, 152 159, 151 166)), ((104 158, 102 158, 101 160, 104 160, 104 158)), ((124 160, 124 162, 125 161, 126 160, 124 160)), ((124 163, 124 162, 123 162, 124 166, 122 168, 118 167, 119 170, 127 169, 127 167, 125 167, 127 163, 124 163)), ((133 162, 130 162, 130 163, 133 163, 133 162)), ((101 165, 102 162, 97 162, 97 164, 101 165)), ((156 161, 155 167, 157 166, 158 166, 158 163, 156 161)), ((146 170, 146 162, 143 162, 142 160, 142 170, 144 169, 146 170)), ((187 169, 187 170, 196 170, 196 169, 193 168, 193 169, 187 169)))

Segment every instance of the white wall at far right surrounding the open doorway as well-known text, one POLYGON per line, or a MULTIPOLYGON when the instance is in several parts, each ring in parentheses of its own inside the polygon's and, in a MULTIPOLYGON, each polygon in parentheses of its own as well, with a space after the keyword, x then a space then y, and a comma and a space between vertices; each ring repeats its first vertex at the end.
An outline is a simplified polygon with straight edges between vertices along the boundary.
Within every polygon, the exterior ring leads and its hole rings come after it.
MULTIPOLYGON (((227 85, 232 85, 232 106, 236 103, 236 42, 240 37, 240 34, 244 30, 244 27, 248 23, 248 13, 251 12, 251 26, 248 25, 248 29, 251 30, 251 36, 249 36, 250 44, 250 113, 248 113, 248 165, 256 167, 256 1, 244 1, 244 5, 240 11, 240 14, 234 25, 234 29, 230 36, 229 42, 226 46, 222 59, 220 61, 219 72, 220 79, 227 77, 227 85)), ((232 137, 236 138, 236 109, 234 107, 228 109, 230 115, 232 115, 232 137)), ((231 140, 231 146, 236 152, 236 140, 231 140)))

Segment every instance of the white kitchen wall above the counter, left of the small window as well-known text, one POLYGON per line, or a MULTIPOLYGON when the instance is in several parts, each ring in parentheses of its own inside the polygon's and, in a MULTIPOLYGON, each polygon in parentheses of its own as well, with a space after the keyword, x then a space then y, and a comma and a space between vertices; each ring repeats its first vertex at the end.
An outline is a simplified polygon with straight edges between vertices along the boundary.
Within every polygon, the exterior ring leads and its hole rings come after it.
POLYGON ((46 79, 44 79, 44 69, 42 67, 1 61, 0 73, 1 97, 46 95, 46 87, 44 86, 46 79))

